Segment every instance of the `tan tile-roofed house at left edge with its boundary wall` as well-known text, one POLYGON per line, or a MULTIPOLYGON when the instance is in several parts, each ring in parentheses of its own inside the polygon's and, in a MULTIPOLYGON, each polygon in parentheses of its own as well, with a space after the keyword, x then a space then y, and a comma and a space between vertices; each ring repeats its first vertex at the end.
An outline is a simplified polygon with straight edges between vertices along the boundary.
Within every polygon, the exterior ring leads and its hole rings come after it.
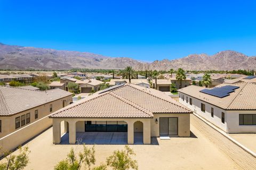
POLYGON ((72 102, 70 92, 0 86, 0 143, 12 150, 52 125, 47 117, 72 102))

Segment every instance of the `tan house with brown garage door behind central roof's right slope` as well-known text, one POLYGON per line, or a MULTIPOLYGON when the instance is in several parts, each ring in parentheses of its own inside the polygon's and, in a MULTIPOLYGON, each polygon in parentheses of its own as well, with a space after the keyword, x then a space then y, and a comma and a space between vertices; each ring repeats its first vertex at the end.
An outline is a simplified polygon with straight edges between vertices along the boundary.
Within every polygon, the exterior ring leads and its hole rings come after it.
MULTIPOLYGON (((170 79, 157 79, 157 81, 153 79, 153 88, 159 91, 170 91, 170 86, 172 83, 175 84, 176 88, 180 87, 180 80, 176 80, 175 78, 170 79)), ((186 80, 181 80, 181 88, 185 88, 192 83, 192 80, 187 78, 186 80)))

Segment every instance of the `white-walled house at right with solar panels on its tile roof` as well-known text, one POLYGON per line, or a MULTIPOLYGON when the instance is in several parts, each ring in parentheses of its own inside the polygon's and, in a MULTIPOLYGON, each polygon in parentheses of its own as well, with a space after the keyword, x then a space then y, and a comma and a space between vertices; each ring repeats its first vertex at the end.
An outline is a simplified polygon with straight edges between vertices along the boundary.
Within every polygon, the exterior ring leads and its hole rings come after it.
POLYGON ((189 86, 178 91, 181 104, 223 131, 256 133, 255 83, 221 84, 215 88, 189 86))

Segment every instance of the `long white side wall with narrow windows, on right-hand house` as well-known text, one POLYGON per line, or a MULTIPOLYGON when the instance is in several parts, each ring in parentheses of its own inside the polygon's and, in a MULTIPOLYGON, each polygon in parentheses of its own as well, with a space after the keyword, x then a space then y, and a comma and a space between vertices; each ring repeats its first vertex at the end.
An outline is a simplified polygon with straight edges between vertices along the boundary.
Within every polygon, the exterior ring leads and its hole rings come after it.
POLYGON ((190 97, 186 94, 182 94, 181 92, 179 92, 179 102, 182 105, 190 108, 194 113, 197 113, 198 115, 205 118, 207 121, 211 122, 212 124, 214 124, 215 126, 220 128, 221 130, 227 132, 227 120, 228 119, 227 119, 227 113, 225 110, 223 110, 219 107, 213 106, 204 101, 198 100, 194 97, 190 97), (184 95, 184 101, 181 99, 181 95, 184 95), (186 97, 188 97, 188 103, 186 101, 186 97), (189 104, 189 98, 192 98, 192 105, 189 104), (201 103, 205 104, 205 113, 201 111, 201 103), (213 107, 213 111, 214 111, 213 117, 211 117, 211 107, 213 107), (221 122, 221 113, 222 112, 225 113, 225 123, 221 122))

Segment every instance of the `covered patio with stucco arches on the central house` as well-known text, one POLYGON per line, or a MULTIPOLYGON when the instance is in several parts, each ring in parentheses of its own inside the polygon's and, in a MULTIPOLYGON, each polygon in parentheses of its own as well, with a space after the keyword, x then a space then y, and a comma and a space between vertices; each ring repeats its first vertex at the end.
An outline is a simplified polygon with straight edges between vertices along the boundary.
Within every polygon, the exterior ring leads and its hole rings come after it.
MULTIPOLYGON (((103 120, 90 119, 91 121, 103 120)), ((113 119, 105 119, 111 121, 113 119)), ((125 144, 150 144, 150 118, 115 118, 115 121, 127 123, 127 132, 86 132, 84 119, 78 118, 53 118, 53 143, 54 144, 98 144, 98 145, 125 145, 125 144), (61 132, 61 122, 64 121, 64 132, 61 132), (64 133, 62 136, 61 134, 64 133)))

